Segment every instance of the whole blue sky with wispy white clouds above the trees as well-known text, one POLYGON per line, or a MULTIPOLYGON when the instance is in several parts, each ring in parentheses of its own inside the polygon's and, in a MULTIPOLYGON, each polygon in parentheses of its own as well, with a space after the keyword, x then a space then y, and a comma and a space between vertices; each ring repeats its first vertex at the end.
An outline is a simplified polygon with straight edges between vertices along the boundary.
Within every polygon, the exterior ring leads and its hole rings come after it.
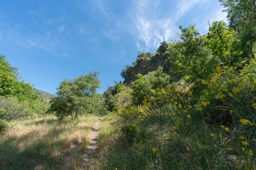
POLYGON ((138 51, 177 39, 179 25, 226 20, 218 0, 6 0, 0 3, 0 54, 25 82, 54 94, 62 79, 100 72, 120 81, 138 51))

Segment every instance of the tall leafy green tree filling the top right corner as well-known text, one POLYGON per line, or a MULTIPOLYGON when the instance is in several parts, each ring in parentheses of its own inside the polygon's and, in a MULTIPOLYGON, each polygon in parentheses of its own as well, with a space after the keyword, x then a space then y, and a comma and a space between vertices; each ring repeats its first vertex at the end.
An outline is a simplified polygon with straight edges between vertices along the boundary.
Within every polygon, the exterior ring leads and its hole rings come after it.
POLYGON ((219 0, 227 11, 230 28, 238 32, 244 56, 255 58, 256 2, 255 0, 219 0))

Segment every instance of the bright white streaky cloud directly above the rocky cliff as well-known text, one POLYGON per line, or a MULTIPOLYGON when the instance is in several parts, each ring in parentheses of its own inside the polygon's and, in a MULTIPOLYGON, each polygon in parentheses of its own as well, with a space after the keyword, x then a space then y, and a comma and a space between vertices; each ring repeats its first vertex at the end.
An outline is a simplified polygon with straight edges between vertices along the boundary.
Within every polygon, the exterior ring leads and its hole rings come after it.
MULTIPOLYGON (((132 31, 139 43, 145 43, 146 48, 157 48, 160 42, 169 41, 174 35, 173 21, 169 17, 160 17, 157 6, 160 0, 139 0, 135 6, 135 16, 132 16, 135 30, 132 31)), ((143 45, 144 46, 144 45, 143 45)))

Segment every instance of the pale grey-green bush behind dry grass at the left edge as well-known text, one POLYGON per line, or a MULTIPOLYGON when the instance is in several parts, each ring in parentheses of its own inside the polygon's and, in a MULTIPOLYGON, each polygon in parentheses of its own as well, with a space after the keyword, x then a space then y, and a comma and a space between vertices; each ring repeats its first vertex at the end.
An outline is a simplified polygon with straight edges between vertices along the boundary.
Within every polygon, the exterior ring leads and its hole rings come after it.
POLYGON ((7 111, 8 120, 27 119, 35 114, 29 102, 19 102, 15 97, 0 98, 0 109, 7 111))

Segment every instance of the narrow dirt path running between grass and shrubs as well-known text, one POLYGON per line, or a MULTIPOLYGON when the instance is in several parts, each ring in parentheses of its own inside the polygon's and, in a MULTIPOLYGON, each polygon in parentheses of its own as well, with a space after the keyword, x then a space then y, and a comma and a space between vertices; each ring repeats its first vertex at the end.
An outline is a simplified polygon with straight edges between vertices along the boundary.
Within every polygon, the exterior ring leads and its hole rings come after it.
POLYGON ((98 120, 93 126, 92 133, 90 135, 90 145, 87 147, 84 153, 84 164, 81 170, 85 170, 87 169, 87 167, 90 166, 90 160, 96 154, 99 124, 100 124, 100 120, 98 120))

